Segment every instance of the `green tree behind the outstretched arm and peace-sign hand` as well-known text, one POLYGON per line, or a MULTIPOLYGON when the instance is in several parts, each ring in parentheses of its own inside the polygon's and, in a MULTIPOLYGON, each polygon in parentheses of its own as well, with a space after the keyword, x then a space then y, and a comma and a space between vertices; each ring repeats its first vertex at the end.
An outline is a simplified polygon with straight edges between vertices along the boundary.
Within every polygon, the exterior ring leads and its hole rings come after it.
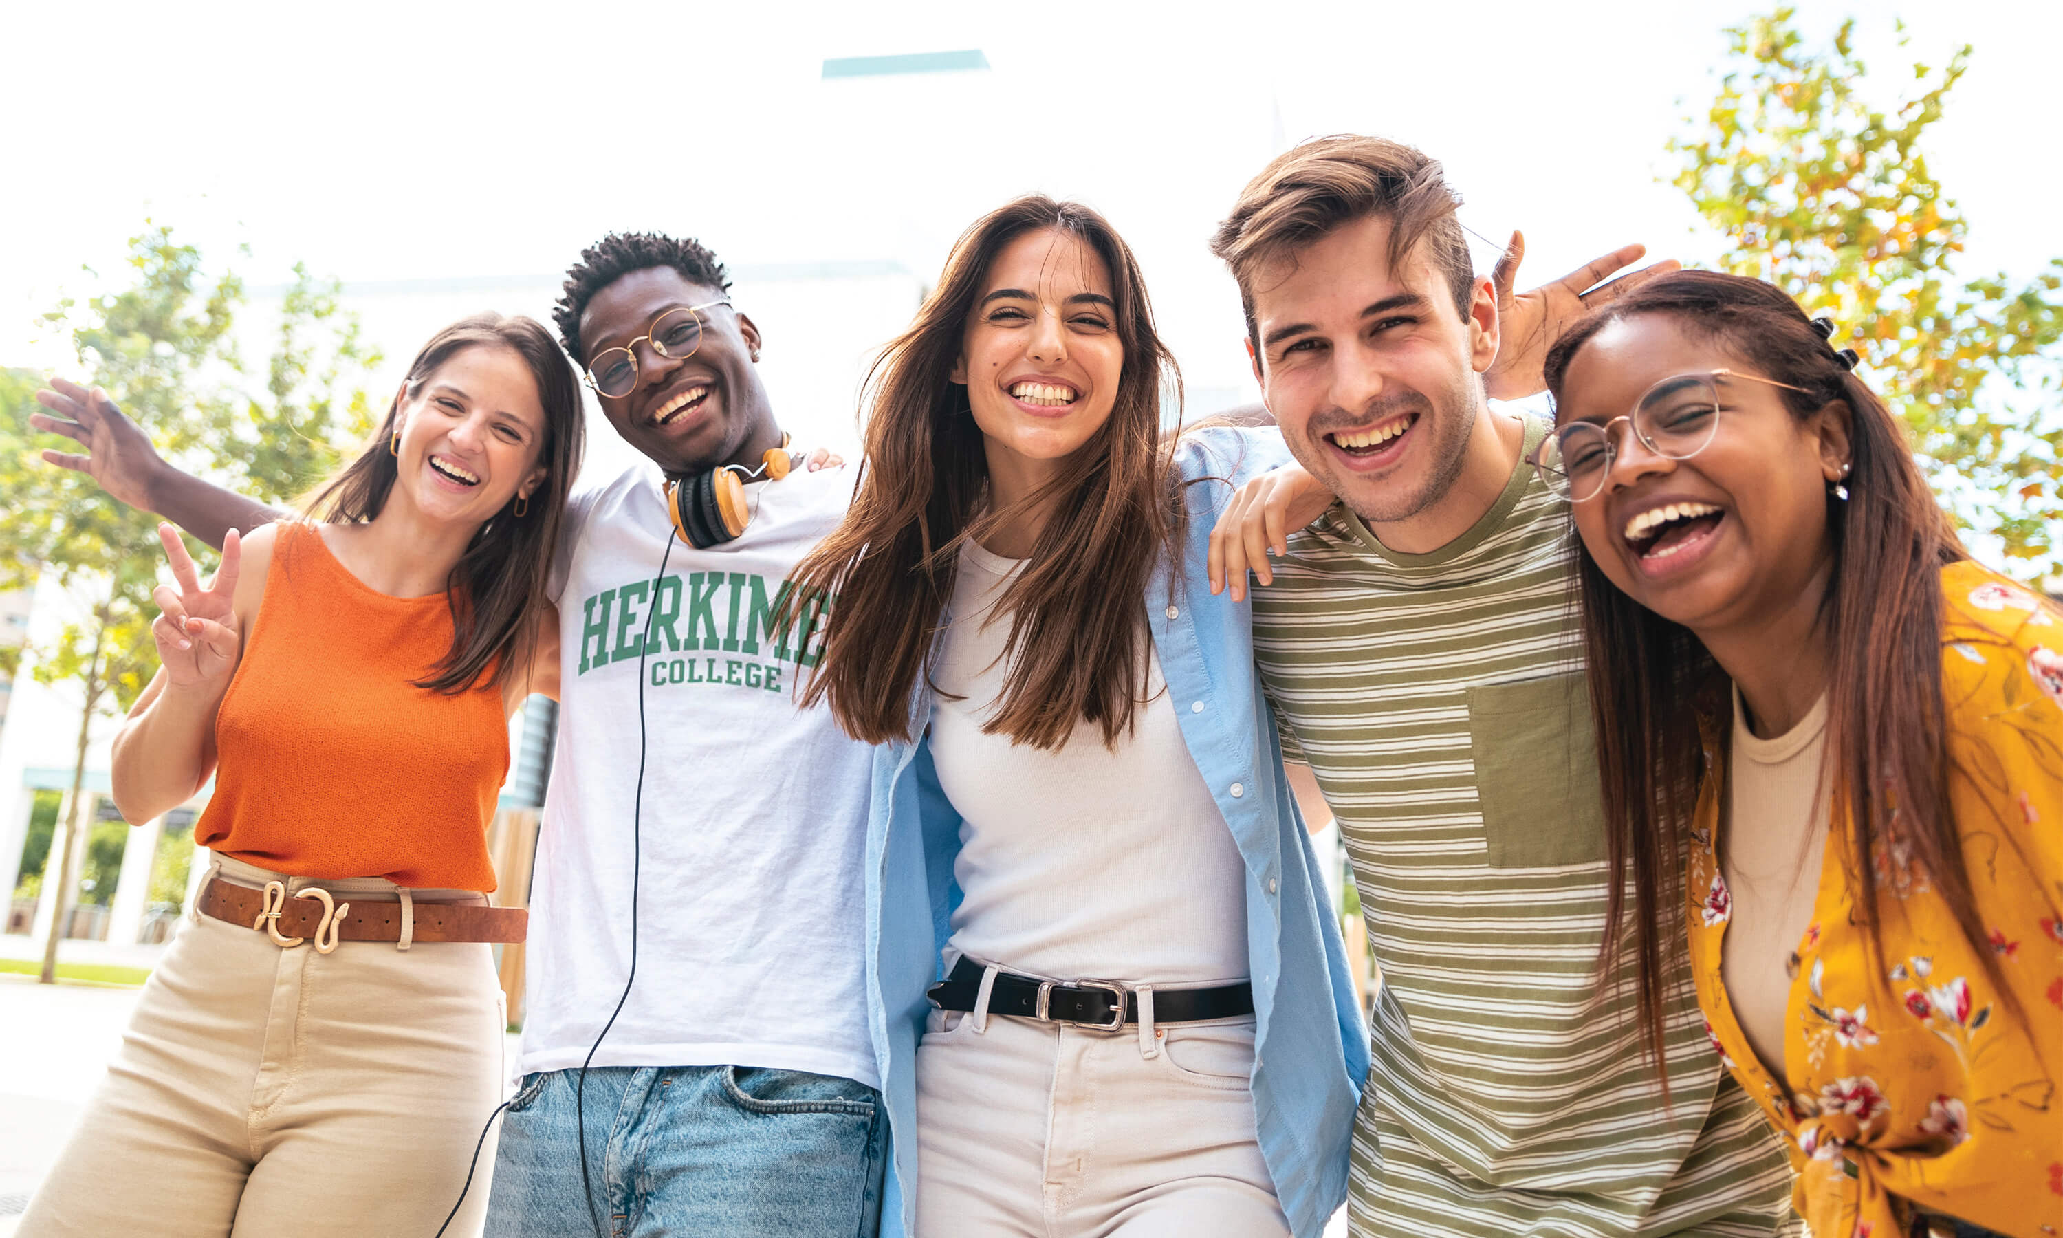
MULTIPOLYGON (((43 316, 70 336, 78 373, 101 386, 175 464, 221 477, 268 501, 297 495, 340 460, 347 437, 369 429, 369 400, 355 386, 380 355, 363 345, 355 316, 338 307, 338 285, 295 266, 274 349, 260 390, 248 390, 233 328, 245 303, 233 272, 208 276, 200 250, 146 225, 130 239, 130 279, 87 301, 62 301, 43 316)), ((27 652, 41 683, 70 683, 83 699, 72 778, 72 811, 62 838, 80 836, 78 803, 95 716, 130 708, 151 675, 157 648, 161 551, 157 518, 111 501, 85 475, 50 468, 29 427, 39 376, 0 371, 0 590, 62 590, 70 611, 56 640, 27 652)), ((204 547, 190 547, 204 561, 204 547)), ((47 889, 76 898, 76 844, 54 848, 47 889)), ((105 848, 103 848, 105 850, 105 848)), ((105 858, 105 856, 103 856, 105 858)), ((45 949, 54 972, 56 937, 45 949)))

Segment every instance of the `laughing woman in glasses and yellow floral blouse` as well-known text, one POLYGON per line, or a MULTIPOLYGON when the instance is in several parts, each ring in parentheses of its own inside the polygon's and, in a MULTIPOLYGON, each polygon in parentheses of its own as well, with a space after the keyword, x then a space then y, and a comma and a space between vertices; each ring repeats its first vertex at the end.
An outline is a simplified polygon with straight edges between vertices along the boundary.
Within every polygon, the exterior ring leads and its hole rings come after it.
POLYGON ((2063 621, 1968 561, 1778 289, 1650 281, 1547 361, 1644 1013, 1690 974, 1820 1238, 2063 1234, 2063 621))

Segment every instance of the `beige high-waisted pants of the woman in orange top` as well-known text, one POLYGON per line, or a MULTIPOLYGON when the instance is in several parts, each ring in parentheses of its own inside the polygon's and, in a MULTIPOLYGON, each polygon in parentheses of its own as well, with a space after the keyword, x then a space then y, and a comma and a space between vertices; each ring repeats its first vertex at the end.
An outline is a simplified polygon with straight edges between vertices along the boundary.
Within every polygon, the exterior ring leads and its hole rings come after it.
MULTIPOLYGON (((215 862, 239 885, 276 877, 215 862)), ((375 877, 281 881, 336 902, 400 898, 375 877)), ((501 1007, 483 943, 345 941, 324 955, 188 916, 17 1238, 431 1238, 501 1104, 501 1007)), ((446 1234, 481 1232, 491 1176, 489 1137, 446 1234)))

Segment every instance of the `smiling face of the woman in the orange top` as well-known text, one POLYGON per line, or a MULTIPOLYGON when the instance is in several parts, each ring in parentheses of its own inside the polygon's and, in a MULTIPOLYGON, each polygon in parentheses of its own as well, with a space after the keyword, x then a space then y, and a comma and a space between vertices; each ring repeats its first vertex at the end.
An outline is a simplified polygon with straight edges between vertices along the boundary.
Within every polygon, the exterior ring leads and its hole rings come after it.
POLYGON ((433 520, 485 524, 543 481, 545 404, 514 349, 446 357, 398 400, 394 491, 433 520))

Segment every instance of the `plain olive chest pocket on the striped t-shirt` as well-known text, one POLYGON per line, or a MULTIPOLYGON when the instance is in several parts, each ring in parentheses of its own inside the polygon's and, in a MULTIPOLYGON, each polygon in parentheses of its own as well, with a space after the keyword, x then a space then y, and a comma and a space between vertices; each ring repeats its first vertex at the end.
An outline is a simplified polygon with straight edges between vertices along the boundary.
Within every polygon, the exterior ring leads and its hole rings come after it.
POLYGON ((1597 735, 1582 675, 1467 689, 1469 755, 1492 869, 1605 858, 1597 735))

